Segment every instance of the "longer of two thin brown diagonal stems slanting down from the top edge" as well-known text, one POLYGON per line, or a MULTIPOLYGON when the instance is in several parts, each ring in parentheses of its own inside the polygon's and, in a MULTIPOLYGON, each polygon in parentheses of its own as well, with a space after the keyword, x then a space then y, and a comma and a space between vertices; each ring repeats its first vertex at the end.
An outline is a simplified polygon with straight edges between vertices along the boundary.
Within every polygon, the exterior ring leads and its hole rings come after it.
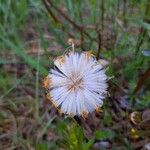
POLYGON ((61 9, 57 8, 51 0, 47 0, 48 3, 63 17, 65 18, 74 28, 76 28, 79 31, 82 31, 86 36, 88 36, 91 40, 96 41, 95 38, 92 38, 85 30, 83 26, 78 25, 76 22, 74 22, 71 18, 69 18, 61 9))

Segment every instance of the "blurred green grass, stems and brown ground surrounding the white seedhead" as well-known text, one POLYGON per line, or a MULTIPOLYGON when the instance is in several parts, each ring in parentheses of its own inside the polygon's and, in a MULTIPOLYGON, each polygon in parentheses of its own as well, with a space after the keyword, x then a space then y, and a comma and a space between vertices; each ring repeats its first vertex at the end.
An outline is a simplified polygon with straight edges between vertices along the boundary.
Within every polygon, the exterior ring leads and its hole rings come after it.
POLYGON ((0 150, 52 149, 150 150, 149 0, 0 0, 0 150), (108 64, 86 119, 60 115, 42 86, 69 40, 108 64))

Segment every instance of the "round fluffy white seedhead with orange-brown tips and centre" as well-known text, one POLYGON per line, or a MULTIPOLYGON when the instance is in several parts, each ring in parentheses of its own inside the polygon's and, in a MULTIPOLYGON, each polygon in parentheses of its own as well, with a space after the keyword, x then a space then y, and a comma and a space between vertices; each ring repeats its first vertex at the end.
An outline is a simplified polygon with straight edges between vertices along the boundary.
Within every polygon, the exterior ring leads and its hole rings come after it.
POLYGON ((107 76, 90 52, 70 52, 54 61, 45 80, 49 98, 62 113, 84 116, 103 105, 107 76))

